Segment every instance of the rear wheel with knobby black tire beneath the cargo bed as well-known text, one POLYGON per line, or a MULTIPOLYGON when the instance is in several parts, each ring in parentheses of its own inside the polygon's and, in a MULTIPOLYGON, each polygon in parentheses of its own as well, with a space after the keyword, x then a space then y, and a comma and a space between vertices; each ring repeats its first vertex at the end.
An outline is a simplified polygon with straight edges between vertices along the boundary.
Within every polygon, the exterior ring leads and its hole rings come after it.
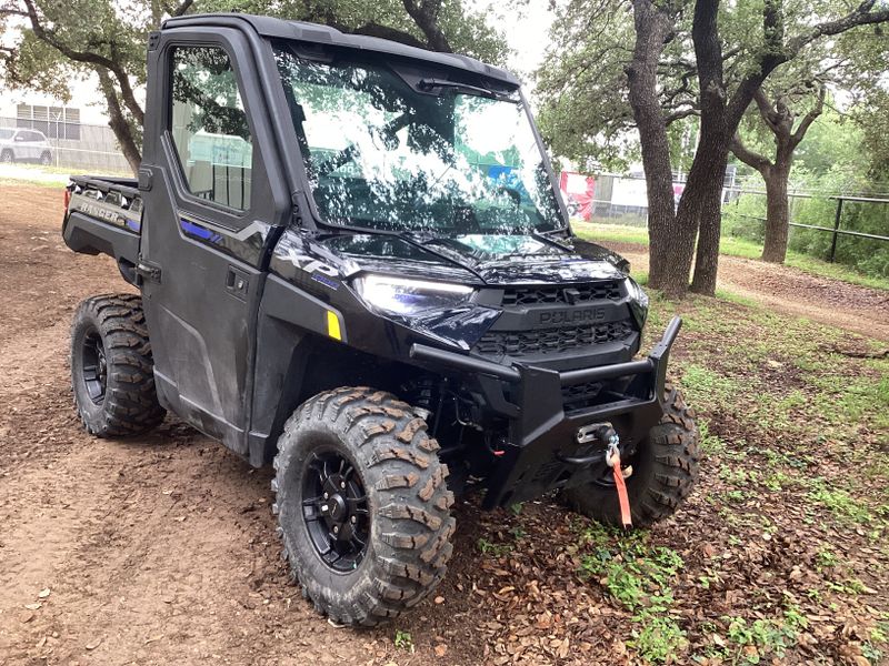
POLYGON ((71 326, 71 384, 87 432, 138 435, 163 421, 142 299, 132 294, 83 301, 71 326))

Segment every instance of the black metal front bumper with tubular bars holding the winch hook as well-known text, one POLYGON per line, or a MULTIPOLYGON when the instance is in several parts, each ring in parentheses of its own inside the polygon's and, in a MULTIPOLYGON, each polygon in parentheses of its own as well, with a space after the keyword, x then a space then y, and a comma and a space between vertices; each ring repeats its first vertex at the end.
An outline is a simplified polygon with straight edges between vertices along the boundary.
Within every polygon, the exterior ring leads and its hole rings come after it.
POLYGON ((487 480, 485 508, 525 502, 557 488, 606 478, 603 442, 579 443, 579 428, 609 423, 621 454, 632 455, 661 418, 667 363, 682 320, 673 317, 647 359, 558 372, 533 365, 499 365, 430 347, 411 346, 417 361, 472 373, 486 408, 509 420, 509 437, 487 480), (596 404, 567 410, 563 389, 601 385, 596 404))

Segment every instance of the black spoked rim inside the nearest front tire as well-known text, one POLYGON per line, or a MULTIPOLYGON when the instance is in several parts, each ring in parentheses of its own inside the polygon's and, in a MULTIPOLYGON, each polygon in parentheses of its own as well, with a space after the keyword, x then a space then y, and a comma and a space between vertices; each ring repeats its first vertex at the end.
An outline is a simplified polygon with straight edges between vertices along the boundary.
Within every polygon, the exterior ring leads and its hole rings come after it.
POLYGON ((330 568, 358 568, 370 539, 370 511, 361 477, 334 451, 312 454, 302 480, 302 517, 316 552, 330 568))

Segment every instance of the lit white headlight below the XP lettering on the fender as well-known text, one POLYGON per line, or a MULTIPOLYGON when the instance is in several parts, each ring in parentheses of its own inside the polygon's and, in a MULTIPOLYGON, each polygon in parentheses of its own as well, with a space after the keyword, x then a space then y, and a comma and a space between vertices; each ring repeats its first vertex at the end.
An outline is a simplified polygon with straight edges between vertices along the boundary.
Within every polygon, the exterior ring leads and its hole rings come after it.
POLYGON ((353 285, 361 300, 373 310, 399 315, 456 307, 467 303, 475 291, 466 284, 373 274, 358 278, 353 285))

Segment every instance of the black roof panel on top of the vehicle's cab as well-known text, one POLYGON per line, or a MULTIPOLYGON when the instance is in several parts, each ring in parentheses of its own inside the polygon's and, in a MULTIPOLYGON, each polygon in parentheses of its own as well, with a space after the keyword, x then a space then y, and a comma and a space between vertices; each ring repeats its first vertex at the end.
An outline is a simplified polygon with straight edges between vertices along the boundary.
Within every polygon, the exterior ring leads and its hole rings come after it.
POLYGON ((364 34, 349 34, 318 23, 307 23, 304 21, 288 21, 272 17, 258 17, 243 13, 204 13, 188 14, 167 19, 161 24, 161 29, 186 28, 186 27, 211 27, 229 22, 231 19, 239 19, 249 24, 253 30, 263 37, 278 39, 293 39, 299 41, 313 42, 319 44, 330 44, 347 49, 361 51, 373 51, 387 56, 398 56, 413 60, 433 62, 444 67, 460 69, 490 77, 505 83, 519 85, 518 79, 507 70, 486 64, 475 58, 461 56, 459 53, 440 53, 438 51, 427 51, 417 47, 409 47, 396 41, 379 37, 368 37, 364 34))

